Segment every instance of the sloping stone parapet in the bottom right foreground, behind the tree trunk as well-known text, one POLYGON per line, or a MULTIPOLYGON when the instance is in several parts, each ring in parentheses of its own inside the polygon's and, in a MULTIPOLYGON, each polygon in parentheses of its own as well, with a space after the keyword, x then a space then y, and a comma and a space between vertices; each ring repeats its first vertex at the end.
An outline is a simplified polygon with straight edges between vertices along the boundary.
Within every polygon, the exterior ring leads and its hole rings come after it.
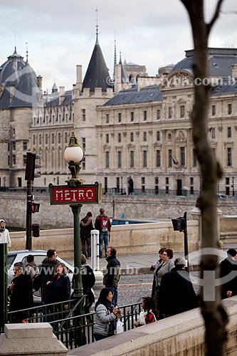
MULTIPOLYGON (((229 316, 225 356, 237 355, 237 297, 223 300, 229 316)), ((68 351, 94 356, 204 356, 204 320, 200 309, 158 320, 126 333, 68 351)))

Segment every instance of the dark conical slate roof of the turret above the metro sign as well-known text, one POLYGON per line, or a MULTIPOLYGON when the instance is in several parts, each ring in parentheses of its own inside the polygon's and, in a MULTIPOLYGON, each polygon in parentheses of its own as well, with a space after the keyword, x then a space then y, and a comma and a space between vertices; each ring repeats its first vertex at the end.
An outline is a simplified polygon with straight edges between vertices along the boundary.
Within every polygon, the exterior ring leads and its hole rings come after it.
POLYGON ((83 80, 83 89, 84 88, 90 88, 91 92, 95 92, 95 88, 102 88, 103 92, 106 91, 106 88, 112 88, 112 80, 110 79, 109 70, 102 55, 98 41, 98 33, 96 35, 95 47, 90 58, 88 70, 83 80))

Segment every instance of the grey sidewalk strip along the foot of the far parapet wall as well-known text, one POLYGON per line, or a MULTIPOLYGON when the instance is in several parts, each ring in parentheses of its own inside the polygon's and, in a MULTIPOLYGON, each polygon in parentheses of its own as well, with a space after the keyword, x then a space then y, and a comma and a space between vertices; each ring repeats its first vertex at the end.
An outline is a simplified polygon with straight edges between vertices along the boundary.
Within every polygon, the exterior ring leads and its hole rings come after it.
MULTIPOLYGON (((227 257, 226 251, 228 248, 237 248, 236 244, 225 244, 223 250, 219 251, 219 261, 227 257)), ((174 259, 177 257, 184 257, 184 251, 174 252, 174 259)), ((200 251, 193 251, 189 253, 189 271, 199 271, 199 261, 201 258, 200 251)), ((152 273, 149 268, 152 263, 156 263, 159 259, 159 253, 127 253, 126 255, 117 255, 117 259, 121 264, 121 274, 147 274, 152 273)), ((100 258, 100 271, 105 272, 107 261, 105 258, 100 258)), ((69 263, 74 264, 73 260, 68 260, 69 263)), ((91 260, 88 259, 87 263, 91 266, 91 260)))

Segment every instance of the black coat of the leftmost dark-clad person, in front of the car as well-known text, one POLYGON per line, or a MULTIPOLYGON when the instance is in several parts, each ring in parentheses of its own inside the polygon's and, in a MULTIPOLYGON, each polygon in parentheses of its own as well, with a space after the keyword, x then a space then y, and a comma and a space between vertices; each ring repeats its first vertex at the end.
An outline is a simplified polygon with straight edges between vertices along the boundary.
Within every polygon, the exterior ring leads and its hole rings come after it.
POLYGON ((11 291, 9 311, 33 307, 33 290, 31 276, 21 274, 13 279, 14 289, 11 291))

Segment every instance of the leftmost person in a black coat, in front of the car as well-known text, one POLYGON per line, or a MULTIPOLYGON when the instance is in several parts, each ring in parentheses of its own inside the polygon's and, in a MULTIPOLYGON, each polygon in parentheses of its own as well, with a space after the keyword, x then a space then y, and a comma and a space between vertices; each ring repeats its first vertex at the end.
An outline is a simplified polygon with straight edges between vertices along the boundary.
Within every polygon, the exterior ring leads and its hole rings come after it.
POLYGON ((14 278, 9 286, 11 295, 9 311, 33 307, 33 290, 31 276, 23 273, 23 263, 14 263, 14 278))

